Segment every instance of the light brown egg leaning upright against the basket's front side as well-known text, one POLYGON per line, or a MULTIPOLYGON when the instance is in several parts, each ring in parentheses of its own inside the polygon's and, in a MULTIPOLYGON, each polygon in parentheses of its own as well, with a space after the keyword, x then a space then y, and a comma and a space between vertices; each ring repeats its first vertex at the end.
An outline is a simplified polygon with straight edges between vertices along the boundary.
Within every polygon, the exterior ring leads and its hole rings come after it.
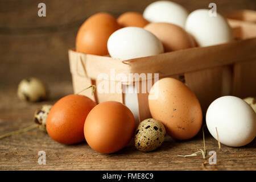
POLYGON ((162 78, 152 86, 149 96, 152 118, 162 122, 172 138, 190 139, 200 131, 203 119, 200 103, 183 82, 162 78), (154 94, 158 97, 152 97, 154 94))

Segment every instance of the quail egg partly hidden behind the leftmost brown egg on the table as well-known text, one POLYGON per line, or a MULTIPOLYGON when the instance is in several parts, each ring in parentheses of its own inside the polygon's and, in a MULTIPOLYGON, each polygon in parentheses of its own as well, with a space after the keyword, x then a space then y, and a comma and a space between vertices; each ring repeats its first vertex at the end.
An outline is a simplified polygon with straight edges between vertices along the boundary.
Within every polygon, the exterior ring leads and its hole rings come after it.
POLYGON ((40 109, 35 111, 34 121, 38 126, 40 131, 46 131, 46 120, 49 113, 49 110, 52 108, 52 105, 43 105, 40 109))

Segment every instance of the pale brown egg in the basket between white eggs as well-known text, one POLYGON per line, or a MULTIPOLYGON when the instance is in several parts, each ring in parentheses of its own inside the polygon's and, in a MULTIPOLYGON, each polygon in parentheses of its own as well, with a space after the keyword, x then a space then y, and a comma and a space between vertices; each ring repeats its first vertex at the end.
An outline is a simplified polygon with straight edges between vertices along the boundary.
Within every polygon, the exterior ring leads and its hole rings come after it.
POLYGON ((165 52, 195 47, 193 38, 175 24, 150 23, 144 29, 150 31, 163 43, 165 52))

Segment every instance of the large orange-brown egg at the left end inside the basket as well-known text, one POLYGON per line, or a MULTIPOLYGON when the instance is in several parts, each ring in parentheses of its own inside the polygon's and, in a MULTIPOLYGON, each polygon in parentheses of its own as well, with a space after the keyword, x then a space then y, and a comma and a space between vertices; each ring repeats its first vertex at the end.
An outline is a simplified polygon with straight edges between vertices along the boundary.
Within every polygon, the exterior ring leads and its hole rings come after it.
POLYGON ((108 55, 109 36, 119 28, 117 20, 108 13, 90 16, 77 32, 76 51, 93 55, 108 55))

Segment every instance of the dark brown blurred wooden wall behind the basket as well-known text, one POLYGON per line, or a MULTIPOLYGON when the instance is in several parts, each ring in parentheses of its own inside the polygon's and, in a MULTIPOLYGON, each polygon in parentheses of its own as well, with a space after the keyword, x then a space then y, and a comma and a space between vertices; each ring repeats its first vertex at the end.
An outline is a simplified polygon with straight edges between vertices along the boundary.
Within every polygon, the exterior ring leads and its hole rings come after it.
MULTIPOLYGON (((36 76, 46 82, 71 82, 68 49, 75 47, 79 26, 90 15, 106 11, 143 12, 154 0, 0 0, 0 88, 16 86, 20 79, 36 76), (46 3, 46 17, 38 16, 38 3, 46 3)), ((229 14, 256 9, 255 0, 175 0, 189 11, 217 4, 229 14)))

